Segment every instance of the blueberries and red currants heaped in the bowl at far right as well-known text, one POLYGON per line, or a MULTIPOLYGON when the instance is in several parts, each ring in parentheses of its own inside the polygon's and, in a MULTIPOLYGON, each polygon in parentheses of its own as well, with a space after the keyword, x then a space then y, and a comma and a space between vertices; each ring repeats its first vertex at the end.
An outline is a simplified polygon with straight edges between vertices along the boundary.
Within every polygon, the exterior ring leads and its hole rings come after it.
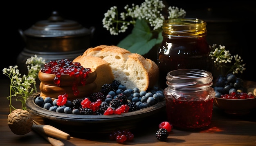
POLYGON ((245 99, 255 97, 253 93, 247 93, 243 86, 243 80, 232 73, 226 76, 220 75, 216 80, 216 86, 213 88, 215 97, 219 98, 245 99))

